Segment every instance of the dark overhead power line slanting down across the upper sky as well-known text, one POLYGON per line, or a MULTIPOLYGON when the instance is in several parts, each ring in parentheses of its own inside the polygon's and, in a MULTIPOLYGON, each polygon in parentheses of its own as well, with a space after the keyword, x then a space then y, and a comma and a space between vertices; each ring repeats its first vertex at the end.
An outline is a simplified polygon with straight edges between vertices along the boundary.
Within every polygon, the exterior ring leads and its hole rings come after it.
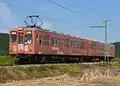
POLYGON ((86 17, 86 18, 88 18, 88 19, 100 21, 99 19, 92 18, 92 17, 87 16, 87 15, 85 15, 85 14, 82 14, 82 13, 80 13, 80 12, 78 12, 78 11, 72 10, 72 9, 70 9, 70 8, 64 6, 64 5, 58 4, 57 2, 54 2, 54 1, 52 1, 52 0, 47 0, 47 1, 49 1, 49 2, 51 2, 51 3, 53 3, 53 4, 55 4, 55 5, 63 8, 63 9, 66 9, 66 10, 72 12, 72 13, 75 13, 75 14, 77 14, 77 15, 79 15, 79 16, 84 16, 84 17, 86 17))

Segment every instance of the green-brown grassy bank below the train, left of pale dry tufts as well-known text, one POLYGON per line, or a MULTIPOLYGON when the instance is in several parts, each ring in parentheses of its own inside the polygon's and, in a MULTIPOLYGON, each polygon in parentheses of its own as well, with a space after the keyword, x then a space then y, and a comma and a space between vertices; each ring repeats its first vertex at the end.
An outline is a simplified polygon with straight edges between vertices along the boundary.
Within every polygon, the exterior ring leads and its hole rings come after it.
POLYGON ((83 74, 80 65, 46 65, 30 67, 0 67, 0 83, 14 80, 29 80, 33 78, 51 77, 68 74, 77 76, 83 74))

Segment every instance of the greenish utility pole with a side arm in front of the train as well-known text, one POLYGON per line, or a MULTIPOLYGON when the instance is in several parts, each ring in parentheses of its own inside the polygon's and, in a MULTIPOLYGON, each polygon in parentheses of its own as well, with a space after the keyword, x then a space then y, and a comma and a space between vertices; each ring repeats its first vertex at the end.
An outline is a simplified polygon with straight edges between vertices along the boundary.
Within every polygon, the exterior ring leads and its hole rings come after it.
POLYGON ((107 38, 107 29, 108 29, 108 21, 110 20, 104 20, 102 21, 104 25, 101 26, 90 26, 91 28, 104 28, 105 29, 105 44, 104 44, 104 62, 109 62, 109 58, 107 58, 108 55, 108 38, 107 38))

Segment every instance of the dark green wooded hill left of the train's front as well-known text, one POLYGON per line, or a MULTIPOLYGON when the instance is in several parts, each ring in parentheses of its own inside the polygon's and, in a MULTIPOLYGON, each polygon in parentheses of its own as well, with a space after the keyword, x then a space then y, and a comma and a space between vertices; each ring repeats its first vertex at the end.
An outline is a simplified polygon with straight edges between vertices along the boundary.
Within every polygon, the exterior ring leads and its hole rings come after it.
POLYGON ((8 54, 9 34, 0 33, 0 55, 8 54))

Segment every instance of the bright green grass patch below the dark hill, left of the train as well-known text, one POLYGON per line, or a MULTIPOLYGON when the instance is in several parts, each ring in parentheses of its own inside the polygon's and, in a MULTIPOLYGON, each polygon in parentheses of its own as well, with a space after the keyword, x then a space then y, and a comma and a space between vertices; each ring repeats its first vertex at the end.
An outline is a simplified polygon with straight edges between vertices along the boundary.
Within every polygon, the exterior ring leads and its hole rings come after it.
POLYGON ((12 64, 15 60, 15 57, 10 56, 0 56, 0 65, 12 64))

